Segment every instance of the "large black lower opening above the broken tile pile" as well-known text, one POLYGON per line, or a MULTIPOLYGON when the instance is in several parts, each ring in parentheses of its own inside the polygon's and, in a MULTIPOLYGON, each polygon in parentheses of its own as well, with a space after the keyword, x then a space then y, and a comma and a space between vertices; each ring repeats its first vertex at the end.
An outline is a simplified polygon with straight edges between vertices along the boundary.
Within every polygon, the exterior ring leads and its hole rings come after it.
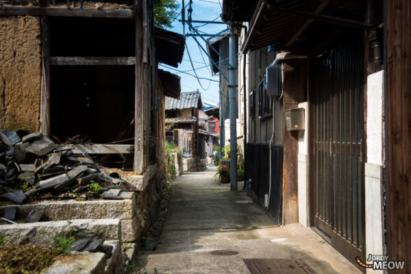
POLYGON ((53 137, 113 142, 134 118, 134 66, 51 66, 50 79, 53 137))

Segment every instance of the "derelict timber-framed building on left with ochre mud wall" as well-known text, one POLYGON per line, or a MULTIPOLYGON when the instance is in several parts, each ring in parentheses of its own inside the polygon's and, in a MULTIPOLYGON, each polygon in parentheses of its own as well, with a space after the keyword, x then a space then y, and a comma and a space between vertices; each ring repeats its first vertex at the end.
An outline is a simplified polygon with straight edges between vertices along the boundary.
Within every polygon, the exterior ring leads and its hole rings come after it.
POLYGON ((164 96, 179 77, 158 62, 177 67, 184 37, 154 27, 153 1, 1 1, 0 28, 0 127, 88 136, 88 153, 165 169, 164 96))

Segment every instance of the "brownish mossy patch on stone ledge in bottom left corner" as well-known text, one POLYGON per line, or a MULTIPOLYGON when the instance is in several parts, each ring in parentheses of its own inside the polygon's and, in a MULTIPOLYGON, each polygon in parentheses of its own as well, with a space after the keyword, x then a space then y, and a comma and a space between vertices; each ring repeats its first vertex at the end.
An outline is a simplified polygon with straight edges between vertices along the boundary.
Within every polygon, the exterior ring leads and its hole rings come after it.
POLYGON ((51 266, 59 255, 57 250, 50 247, 3 246, 0 247, 0 273, 41 273, 51 266))

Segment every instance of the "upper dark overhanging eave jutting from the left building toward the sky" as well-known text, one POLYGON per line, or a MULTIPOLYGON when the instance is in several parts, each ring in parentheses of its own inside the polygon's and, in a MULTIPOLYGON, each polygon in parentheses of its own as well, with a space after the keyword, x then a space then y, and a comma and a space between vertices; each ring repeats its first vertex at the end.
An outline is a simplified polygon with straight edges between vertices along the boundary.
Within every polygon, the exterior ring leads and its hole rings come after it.
POLYGON ((154 44, 158 62, 175 68, 182 62, 186 40, 181 34, 154 27, 154 44))

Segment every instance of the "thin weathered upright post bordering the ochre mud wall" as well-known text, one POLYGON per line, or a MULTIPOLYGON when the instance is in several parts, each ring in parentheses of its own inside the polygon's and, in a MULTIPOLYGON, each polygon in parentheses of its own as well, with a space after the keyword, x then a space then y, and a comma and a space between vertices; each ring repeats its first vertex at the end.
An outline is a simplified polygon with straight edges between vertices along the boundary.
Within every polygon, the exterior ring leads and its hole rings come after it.
POLYGON ((49 21, 41 17, 41 86, 40 86, 40 132, 50 135, 50 40, 49 21))

